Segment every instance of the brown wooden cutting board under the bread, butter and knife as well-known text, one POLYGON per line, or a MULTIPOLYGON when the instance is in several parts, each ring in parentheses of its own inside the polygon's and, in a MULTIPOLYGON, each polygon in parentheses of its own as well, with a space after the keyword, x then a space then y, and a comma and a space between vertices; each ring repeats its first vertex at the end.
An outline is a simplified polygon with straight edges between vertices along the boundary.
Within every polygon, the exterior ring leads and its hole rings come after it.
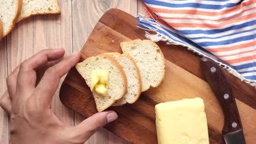
MULTIPOLYGON (((81 62, 104 52, 121 52, 120 42, 145 39, 145 31, 137 28, 135 17, 118 9, 110 9, 97 22, 81 50, 81 62)), ((134 104, 110 107, 118 113, 117 121, 106 125, 123 139, 132 143, 157 143, 154 106, 165 101, 200 97, 205 102, 210 143, 224 143, 224 117, 217 98, 202 75, 200 56, 178 45, 157 43, 166 58, 166 75, 161 85, 143 92, 134 104)), ((235 94, 247 143, 256 141, 256 91, 225 71, 235 94)), ((60 90, 62 103, 85 117, 97 112, 91 91, 73 68, 60 90)), ((177 128, 178 129, 178 128, 177 128)))

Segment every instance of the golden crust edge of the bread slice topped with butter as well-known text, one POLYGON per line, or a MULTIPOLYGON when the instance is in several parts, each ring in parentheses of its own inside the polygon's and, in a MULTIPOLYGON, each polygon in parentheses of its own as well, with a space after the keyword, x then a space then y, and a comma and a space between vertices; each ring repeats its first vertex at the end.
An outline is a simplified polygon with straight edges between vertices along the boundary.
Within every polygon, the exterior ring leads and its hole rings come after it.
MULTIPOLYGON (((90 61, 91 59, 94 59, 94 58, 97 58, 97 57, 103 57, 103 58, 107 58, 109 61, 113 62, 114 65, 118 68, 118 70, 120 71, 121 75, 122 75, 122 79, 124 81, 124 87, 123 87, 123 93, 120 95, 120 97, 118 99, 120 99, 121 97, 123 97, 123 95, 127 92, 127 79, 126 79, 126 76, 125 76, 125 73, 124 73, 124 70, 123 68, 121 67, 121 65, 115 61, 115 59, 112 57, 112 56, 109 56, 109 55, 105 55, 105 54, 101 54, 101 55, 98 55, 98 56, 95 56, 95 57, 89 57, 89 58, 86 58, 82 63, 84 62, 87 62, 87 61, 90 61)), ((75 65, 75 68, 77 68, 78 65, 75 65)), ((79 73, 79 71, 78 71, 79 73)), ((79 73, 80 74, 80 73, 79 73)), ((83 75, 82 75, 83 77, 83 75)), ((85 79, 85 77, 83 77, 85 79)), ((95 91, 95 90, 94 90, 95 91)), ((98 110, 98 112, 101 112, 101 111, 104 111, 106 110, 108 107, 112 106, 113 103, 115 103, 116 100, 118 99, 113 99, 112 103, 110 103, 108 106, 106 106, 104 109, 100 109, 100 107, 98 107, 96 105, 96 108, 98 110)))

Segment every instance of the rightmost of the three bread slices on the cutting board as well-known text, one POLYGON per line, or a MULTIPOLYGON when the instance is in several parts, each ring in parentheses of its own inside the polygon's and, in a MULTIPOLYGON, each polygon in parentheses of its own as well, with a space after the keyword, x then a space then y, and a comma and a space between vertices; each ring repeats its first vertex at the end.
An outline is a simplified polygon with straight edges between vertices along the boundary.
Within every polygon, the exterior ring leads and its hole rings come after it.
POLYGON ((142 92, 160 85, 165 76, 165 57, 152 40, 132 40, 120 44, 124 53, 136 62, 142 80, 142 92))

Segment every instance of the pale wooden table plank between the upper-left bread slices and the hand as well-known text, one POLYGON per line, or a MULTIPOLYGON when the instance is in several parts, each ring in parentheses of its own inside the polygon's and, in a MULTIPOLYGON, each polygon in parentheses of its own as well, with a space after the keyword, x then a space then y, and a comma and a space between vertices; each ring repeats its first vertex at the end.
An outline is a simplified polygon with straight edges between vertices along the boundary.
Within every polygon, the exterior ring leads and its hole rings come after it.
MULTIPOLYGON (((8 71, 43 49, 63 47, 66 55, 72 53, 71 1, 59 0, 61 15, 39 15, 19 22, 7 37, 8 71)), ((53 63, 52 63, 53 64, 53 63)), ((63 81, 63 79, 61 80, 63 81)), ((73 111, 59 100, 59 88, 53 98, 55 115, 73 125, 73 111)))

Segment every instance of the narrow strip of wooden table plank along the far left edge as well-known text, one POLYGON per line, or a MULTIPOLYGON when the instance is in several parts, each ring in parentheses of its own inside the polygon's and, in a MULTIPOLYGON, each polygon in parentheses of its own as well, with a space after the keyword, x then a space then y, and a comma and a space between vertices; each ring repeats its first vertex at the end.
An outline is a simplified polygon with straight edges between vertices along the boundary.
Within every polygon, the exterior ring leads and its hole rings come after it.
MULTIPOLYGON (((7 51, 6 51, 6 39, 3 38, 0 41, 0 98, 6 91, 7 77, 7 51)), ((8 125, 8 115, 0 107, 0 143, 8 143, 9 141, 9 125, 8 125)))

